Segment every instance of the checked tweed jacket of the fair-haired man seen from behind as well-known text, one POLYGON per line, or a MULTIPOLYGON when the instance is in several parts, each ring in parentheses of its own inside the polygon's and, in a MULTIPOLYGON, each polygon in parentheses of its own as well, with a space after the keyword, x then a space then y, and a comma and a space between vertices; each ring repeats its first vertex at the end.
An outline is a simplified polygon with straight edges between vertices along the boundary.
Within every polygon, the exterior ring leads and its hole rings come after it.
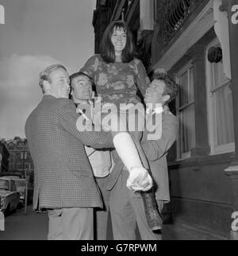
POLYGON ((33 209, 102 207, 84 145, 112 147, 110 133, 76 128, 75 104, 44 95, 25 123, 34 164, 33 209))

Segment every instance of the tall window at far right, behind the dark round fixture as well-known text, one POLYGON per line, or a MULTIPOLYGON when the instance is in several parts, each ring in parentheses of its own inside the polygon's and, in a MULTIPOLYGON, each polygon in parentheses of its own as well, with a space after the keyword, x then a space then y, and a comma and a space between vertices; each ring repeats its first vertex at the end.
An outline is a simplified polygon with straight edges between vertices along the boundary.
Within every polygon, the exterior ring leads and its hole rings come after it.
MULTIPOLYGON (((218 40, 213 41, 207 50, 211 46, 221 47, 218 40)), ((235 139, 230 80, 225 77, 222 60, 219 63, 207 60, 206 72, 211 153, 232 152, 235 150, 235 139)))

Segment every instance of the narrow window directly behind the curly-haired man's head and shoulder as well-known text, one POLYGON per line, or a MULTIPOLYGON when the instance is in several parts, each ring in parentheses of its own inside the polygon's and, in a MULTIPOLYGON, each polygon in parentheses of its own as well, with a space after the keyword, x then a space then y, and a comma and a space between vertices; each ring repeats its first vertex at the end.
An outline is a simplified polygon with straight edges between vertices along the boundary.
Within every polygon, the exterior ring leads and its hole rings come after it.
POLYGON ((190 149, 195 146, 194 119, 194 72, 192 64, 178 72, 179 85, 177 113, 179 117, 178 158, 190 157, 190 149))

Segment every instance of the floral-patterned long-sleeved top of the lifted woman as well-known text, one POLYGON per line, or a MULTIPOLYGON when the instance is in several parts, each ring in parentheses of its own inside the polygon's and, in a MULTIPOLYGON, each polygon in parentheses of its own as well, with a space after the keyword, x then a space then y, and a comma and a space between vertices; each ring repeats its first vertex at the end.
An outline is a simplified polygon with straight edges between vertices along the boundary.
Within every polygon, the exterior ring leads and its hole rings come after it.
POLYGON ((80 72, 92 77, 97 88, 98 96, 103 103, 140 103, 136 95, 140 89, 144 96, 150 80, 144 65, 138 59, 129 63, 114 62, 107 64, 99 54, 90 57, 80 72))

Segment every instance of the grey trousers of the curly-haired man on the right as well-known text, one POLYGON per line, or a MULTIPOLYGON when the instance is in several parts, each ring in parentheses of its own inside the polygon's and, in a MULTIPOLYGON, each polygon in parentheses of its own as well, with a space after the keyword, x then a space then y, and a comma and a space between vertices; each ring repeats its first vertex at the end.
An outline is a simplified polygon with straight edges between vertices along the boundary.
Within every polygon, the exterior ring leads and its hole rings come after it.
MULTIPOLYGON (((117 183, 110 192, 109 208, 112 219, 113 239, 136 240, 136 224, 142 240, 161 240, 161 234, 149 227, 144 212, 144 203, 140 192, 132 192, 126 187, 129 172, 122 170, 117 183)), ((163 208, 159 203, 159 211, 163 208)))

